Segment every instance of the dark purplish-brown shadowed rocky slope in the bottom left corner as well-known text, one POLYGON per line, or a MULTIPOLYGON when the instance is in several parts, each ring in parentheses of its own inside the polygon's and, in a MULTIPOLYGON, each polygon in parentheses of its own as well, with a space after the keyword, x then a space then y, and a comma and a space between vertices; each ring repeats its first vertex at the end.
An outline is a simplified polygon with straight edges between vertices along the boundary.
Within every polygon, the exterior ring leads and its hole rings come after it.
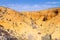
POLYGON ((0 29, 0 40, 18 40, 18 39, 10 35, 7 31, 0 29))

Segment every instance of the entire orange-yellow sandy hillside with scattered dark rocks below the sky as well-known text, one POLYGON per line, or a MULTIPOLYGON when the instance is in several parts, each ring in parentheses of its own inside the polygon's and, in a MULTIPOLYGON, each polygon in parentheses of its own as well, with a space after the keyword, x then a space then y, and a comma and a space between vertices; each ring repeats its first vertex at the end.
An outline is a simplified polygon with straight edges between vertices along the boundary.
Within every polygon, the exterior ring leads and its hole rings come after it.
POLYGON ((60 40, 60 8, 16 12, 0 7, 0 40, 60 40))

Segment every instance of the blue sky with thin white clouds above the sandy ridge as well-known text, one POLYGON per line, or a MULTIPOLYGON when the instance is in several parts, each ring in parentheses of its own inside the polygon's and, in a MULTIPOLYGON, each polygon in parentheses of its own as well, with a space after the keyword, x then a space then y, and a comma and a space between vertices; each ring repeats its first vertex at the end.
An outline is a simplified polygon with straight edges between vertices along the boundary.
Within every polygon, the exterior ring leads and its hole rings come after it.
POLYGON ((60 7, 60 0, 0 0, 0 6, 16 11, 36 11, 60 7))

